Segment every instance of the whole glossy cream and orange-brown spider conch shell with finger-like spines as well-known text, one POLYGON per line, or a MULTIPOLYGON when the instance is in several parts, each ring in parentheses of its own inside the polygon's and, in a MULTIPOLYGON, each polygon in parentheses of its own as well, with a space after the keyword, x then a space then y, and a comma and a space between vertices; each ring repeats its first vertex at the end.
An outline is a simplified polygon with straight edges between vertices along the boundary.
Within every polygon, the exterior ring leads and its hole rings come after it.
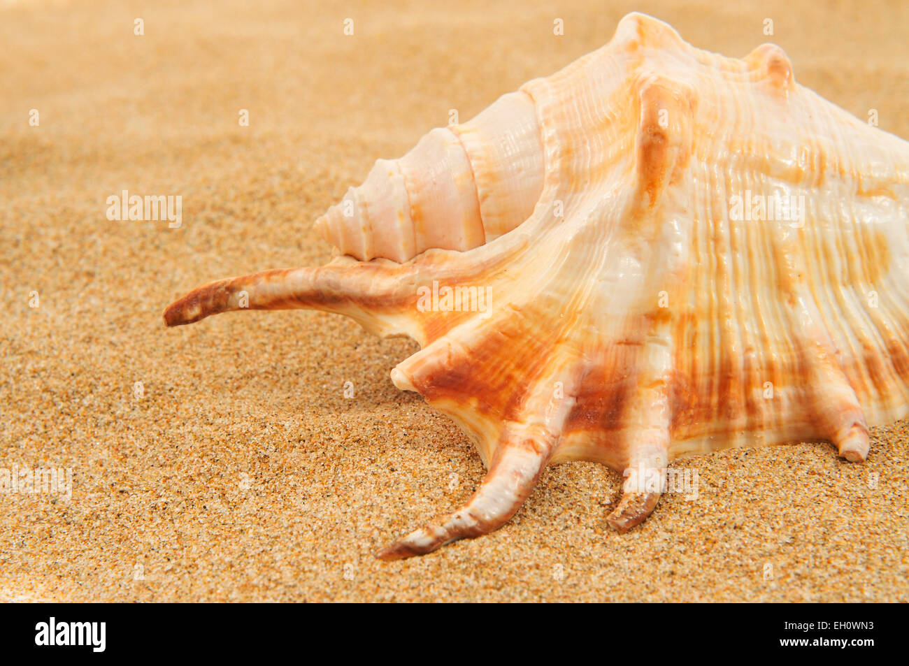
POLYGON ((907 415, 909 144, 744 60, 626 16, 613 39, 435 129, 317 221, 325 266, 205 284, 168 325, 315 308, 422 349, 391 373, 474 442, 463 506, 381 552, 506 522, 546 465, 623 472, 607 521, 654 510, 667 465, 833 442, 907 415))

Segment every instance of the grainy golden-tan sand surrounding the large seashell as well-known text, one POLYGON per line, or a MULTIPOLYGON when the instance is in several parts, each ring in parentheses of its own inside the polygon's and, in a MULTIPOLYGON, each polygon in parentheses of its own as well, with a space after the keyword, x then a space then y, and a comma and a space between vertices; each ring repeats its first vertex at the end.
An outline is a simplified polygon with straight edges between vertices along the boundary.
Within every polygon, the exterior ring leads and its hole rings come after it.
POLYGON ((0 467, 75 475, 68 501, 0 494, 0 599, 909 601, 905 423, 864 465, 824 444, 684 462, 699 499, 624 536, 619 475, 561 465, 498 532, 385 563, 484 474, 389 380, 415 343, 299 311, 165 329, 200 283, 324 263, 312 222, 375 158, 633 10, 726 55, 774 41, 797 81, 909 137, 900 0, 0 2, 0 467), (124 189, 182 195, 183 226, 107 220, 124 189))

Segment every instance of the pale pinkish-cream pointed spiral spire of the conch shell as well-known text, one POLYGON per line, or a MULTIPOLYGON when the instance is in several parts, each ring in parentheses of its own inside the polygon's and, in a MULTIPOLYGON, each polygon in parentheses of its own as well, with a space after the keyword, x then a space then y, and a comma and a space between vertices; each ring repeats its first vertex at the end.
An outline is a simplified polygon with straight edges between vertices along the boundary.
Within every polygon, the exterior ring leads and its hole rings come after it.
POLYGON ((400 159, 376 160, 315 226, 361 261, 470 250, 523 223, 543 180, 534 101, 518 91, 464 124, 436 127, 400 159))

